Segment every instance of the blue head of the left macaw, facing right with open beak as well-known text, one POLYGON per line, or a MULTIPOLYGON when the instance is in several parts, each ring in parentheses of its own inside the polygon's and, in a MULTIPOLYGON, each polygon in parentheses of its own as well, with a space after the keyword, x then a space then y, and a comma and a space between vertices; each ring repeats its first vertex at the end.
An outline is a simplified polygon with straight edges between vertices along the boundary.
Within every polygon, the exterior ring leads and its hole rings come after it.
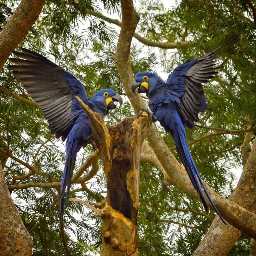
POLYGON ((116 108, 114 102, 119 102, 119 106, 123 104, 123 99, 121 96, 112 89, 103 89, 97 91, 92 96, 91 101, 100 103, 100 105, 105 107, 107 110, 116 108))

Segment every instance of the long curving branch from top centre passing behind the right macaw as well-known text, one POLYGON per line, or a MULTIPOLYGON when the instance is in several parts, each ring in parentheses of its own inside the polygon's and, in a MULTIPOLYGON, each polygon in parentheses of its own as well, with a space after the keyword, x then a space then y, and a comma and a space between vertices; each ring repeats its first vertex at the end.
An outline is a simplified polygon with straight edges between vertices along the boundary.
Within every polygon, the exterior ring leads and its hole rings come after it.
MULTIPOLYGON (((122 27, 116 47, 114 61, 116 63, 120 78, 124 85, 127 96, 135 111, 140 108, 147 108, 140 95, 135 95, 131 91, 131 84, 134 79, 130 64, 130 43, 132 35, 139 22, 138 14, 135 12, 132 0, 122 0, 122 27)), ((192 183, 185 171, 185 168, 177 161, 165 142, 162 140, 156 126, 153 124, 148 133, 149 145, 152 147, 160 164, 168 174, 168 180, 172 184, 177 184, 184 189, 190 196, 200 201, 200 198, 193 188, 192 183)), ((207 184, 206 188, 212 197, 216 207, 224 219, 233 226, 250 237, 256 236, 256 215, 240 207, 239 205, 222 198, 215 193, 207 184)), ((211 205, 208 202, 209 207, 211 205)))

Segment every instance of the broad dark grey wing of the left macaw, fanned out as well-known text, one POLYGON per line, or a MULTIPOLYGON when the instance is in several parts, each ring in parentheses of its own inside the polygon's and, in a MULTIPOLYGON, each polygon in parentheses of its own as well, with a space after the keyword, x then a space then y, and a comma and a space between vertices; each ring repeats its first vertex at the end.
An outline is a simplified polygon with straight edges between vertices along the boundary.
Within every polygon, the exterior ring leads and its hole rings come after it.
POLYGON ((49 123, 51 133, 56 138, 66 140, 74 120, 82 108, 73 95, 89 104, 82 83, 73 75, 54 64, 42 55, 21 48, 23 53, 13 52, 20 57, 9 58, 18 65, 8 66, 18 77, 31 98, 41 107, 49 123))

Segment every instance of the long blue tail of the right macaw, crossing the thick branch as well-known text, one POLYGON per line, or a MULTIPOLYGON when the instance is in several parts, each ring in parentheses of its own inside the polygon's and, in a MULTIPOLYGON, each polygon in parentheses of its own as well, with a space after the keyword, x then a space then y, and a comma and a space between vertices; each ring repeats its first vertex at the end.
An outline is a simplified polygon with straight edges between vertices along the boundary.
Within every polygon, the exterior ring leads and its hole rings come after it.
POLYGON ((203 181, 200 177, 200 174, 196 168, 196 165, 194 163, 194 160, 189 152, 189 146, 187 143, 187 138, 186 138, 186 134, 185 132, 178 132, 178 131, 174 131, 171 133, 174 142, 176 144, 176 148, 179 154, 179 157, 183 163, 183 165, 185 166, 185 169, 189 175, 189 178, 194 186, 194 188, 196 189, 196 191, 199 193, 199 196, 201 198, 201 201, 203 203, 204 209, 208 212, 208 206, 207 203, 205 201, 205 198, 203 196, 201 186, 203 187, 203 190, 207 196, 207 198, 209 199, 209 201, 211 202, 215 212, 219 215, 220 219, 224 222, 224 224, 226 224, 225 220, 223 219, 223 217, 221 216, 221 214, 219 213, 218 209, 216 208, 216 206, 213 203, 213 200, 211 199, 210 195, 208 194, 207 189, 205 188, 203 181), (199 184, 199 182, 200 184, 199 184))

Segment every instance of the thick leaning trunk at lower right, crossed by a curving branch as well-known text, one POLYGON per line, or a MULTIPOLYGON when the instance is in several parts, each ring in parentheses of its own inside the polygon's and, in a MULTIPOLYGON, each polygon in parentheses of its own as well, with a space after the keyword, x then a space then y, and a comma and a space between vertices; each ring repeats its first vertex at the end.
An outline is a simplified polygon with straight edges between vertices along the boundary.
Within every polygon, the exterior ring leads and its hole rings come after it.
MULTIPOLYGON (((236 189, 229 200, 236 202, 245 209, 256 213, 256 140, 254 140, 249 158, 244 166, 236 189)), ((246 221, 248 221, 246 219, 246 221)), ((256 225, 256 224, 254 224, 256 225)), ((241 235, 241 231, 231 225, 224 225, 219 217, 215 217, 213 224, 201 241, 194 255, 227 255, 241 235)))

